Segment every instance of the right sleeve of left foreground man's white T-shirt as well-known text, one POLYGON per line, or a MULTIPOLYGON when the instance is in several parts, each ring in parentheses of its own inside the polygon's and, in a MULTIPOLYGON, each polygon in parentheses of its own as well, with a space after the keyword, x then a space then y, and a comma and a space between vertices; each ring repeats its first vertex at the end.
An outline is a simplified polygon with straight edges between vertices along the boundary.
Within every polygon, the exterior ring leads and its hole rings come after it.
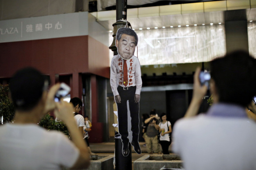
POLYGON ((56 156, 57 163, 67 168, 71 168, 79 157, 79 150, 75 145, 63 134, 56 134, 56 156))

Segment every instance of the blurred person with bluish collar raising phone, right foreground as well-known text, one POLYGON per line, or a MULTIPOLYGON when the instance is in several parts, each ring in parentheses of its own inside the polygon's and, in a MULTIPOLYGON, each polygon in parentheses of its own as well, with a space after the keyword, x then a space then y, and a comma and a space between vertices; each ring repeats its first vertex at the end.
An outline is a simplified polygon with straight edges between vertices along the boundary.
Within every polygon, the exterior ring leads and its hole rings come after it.
POLYGON ((235 51, 210 62, 210 91, 214 104, 206 114, 198 110, 207 86, 194 74, 193 95, 185 118, 175 122, 172 150, 186 170, 256 169, 256 123, 245 107, 256 94, 256 59, 235 51))

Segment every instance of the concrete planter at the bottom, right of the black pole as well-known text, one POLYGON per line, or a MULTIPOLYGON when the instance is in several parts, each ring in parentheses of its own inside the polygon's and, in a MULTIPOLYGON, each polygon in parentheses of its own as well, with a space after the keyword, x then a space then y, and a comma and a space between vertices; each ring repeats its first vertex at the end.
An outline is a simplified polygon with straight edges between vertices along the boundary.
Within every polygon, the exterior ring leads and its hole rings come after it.
POLYGON ((162 167, 181 169, 183 161, 178 155, 144 155, 134 161, 134 170, 160 170, 162 167))

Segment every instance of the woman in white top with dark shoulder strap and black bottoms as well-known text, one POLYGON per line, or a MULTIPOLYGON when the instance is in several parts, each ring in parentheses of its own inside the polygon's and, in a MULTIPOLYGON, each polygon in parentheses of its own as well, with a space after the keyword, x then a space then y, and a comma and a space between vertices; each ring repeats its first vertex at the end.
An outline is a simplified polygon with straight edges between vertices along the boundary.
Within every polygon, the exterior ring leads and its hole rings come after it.
POLYGON ((160 133, 160 138, 159 138, 159 143, 162 146, 163 154, 164 155, 169 155, 169 145, 171 144, 171 140, 169 137, 169 133, 171 133, 171 123, 170 121, 166 120, 166 114, 162 113, 160 116, 162 122, 158 125, 159 126, 159 133, 160 133))

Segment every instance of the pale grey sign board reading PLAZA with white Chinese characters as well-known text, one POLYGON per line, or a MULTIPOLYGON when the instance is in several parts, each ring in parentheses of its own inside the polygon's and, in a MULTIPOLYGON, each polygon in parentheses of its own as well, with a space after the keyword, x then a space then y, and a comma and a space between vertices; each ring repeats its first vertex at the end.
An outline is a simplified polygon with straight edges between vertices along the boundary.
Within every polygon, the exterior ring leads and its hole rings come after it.
POLYGON ((88 12, 0 21, 0 43, 88 35, 88 12))

